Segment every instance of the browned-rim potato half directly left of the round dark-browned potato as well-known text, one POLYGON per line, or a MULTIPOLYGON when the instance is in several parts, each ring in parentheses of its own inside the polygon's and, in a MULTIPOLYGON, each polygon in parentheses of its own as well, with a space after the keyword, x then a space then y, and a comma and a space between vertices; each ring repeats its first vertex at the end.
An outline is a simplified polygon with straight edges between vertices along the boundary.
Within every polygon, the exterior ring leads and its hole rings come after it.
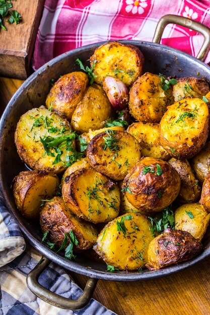
POLYGON ((105 175, 85 168, 64 178, 65 205, 77 216, 93 223, 109 222, 119 213, 120 193, 105 175))

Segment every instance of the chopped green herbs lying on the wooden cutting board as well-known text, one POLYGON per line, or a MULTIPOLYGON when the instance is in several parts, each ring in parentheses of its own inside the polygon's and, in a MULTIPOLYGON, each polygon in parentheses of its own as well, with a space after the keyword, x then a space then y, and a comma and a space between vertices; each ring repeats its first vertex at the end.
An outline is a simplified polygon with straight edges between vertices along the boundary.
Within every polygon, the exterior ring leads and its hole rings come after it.
POLYGON ((15 23, 17 25, 21 22, 22 17, 20 13, 18 13, 16 10, 11 11, 10 9, 12 7, 12 0, 0 0, 0 30, 2 28, 3 30, 7 31, 7 28, 3 23, 3 19, 5 17, 9 17, 9 19, 6 21, 9 24, 15 23))

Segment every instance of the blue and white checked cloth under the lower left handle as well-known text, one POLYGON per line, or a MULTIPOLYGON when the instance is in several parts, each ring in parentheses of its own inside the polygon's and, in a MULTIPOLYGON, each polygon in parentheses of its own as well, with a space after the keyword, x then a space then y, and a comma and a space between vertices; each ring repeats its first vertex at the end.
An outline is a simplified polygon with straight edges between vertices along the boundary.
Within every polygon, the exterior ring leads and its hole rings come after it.
MULTIPOLYGON (((40 258, 35 249, 26 246, 17 221, 0 197, 0 315, 116 315, 93 298, 86 307, 74 311, 39 299, 28 289, 26 276, 40 258)), ((77 299, 82 292, 69 274, 53 263, 40 275, 39 283, 70 299, 77 299)))

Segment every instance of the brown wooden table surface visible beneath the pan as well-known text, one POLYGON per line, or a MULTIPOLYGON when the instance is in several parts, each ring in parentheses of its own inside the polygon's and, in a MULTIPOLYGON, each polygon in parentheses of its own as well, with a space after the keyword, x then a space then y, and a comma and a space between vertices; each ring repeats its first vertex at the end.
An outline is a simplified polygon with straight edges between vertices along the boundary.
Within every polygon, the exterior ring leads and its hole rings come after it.
MULTIPOLYGON (((0 110, 23 81, 0 78, 0 110)), ((87 277, 71 273, 83 288, 87 277)), ((187 270, 150 281, 99 280, 93 297, 118 315, 210 314, 210 258, 187 270)), ((97 315, 97 314, 86 314, 97 315)))

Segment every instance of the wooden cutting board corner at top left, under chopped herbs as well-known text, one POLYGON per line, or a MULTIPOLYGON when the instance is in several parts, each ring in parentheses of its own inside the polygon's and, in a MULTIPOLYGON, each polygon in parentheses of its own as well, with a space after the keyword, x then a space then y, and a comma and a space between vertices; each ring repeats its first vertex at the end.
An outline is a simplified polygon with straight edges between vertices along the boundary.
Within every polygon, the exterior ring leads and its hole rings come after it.
POLYGON ((11 10, 21 14, 22 22, 10 25, 4 21, 7 32, 0 30, 0 75, 25 79, 31 72, 31 58, 44 0, 17 0, 12 3, 11 10))

